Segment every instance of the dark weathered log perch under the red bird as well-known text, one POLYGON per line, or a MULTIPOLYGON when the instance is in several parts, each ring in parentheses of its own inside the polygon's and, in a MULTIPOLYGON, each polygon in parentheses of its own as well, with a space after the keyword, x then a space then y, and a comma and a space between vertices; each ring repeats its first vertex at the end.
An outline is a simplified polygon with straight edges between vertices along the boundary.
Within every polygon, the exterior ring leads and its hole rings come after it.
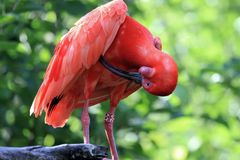
POLYGON ((101 160, 107 152, 106 147, 92 144, 0 147, 0 160, 101 160))

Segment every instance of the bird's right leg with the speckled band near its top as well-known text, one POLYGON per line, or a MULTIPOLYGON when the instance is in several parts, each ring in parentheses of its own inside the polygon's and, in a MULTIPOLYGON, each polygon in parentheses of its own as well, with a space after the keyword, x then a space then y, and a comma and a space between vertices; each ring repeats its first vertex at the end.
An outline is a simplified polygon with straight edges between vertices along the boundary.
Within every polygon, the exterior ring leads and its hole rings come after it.
POLYGON ((105 133, 107 136, 107 140, 110 146, 112 160, 118 160, 119 159, 118 152, 117 152, 115 140, 113 137, 114 112, 115 112, 115 107, 110 107, 110 111, 105 116, 104 126, 105 126, 105 133))

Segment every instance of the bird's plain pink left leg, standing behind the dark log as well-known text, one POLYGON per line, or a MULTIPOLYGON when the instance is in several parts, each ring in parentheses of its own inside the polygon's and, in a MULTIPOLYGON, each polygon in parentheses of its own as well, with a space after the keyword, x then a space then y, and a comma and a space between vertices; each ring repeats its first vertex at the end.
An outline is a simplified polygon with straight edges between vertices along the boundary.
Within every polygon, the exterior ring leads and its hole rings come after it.
POLYGON ((88 114, 88 105, 89 105, 89 100, 86 100, 82 110, 82 115, 81 115, 81 121, 82 121, 82 127, 83 127, 83 141, 85 144, 89 144, 90 118, 88 114))

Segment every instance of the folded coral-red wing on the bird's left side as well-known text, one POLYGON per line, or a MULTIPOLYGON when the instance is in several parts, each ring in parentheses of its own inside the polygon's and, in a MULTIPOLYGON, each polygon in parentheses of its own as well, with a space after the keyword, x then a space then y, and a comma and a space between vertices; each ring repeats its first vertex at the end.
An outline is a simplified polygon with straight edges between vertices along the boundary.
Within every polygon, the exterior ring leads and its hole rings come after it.
POLYGON ((56 96, 63 95, 83 71, 94 65, 113 42, 127 6, 113 0, 91 11, 63 36, 54 50, 44 81, 31 106, 37 117, 56 96))

